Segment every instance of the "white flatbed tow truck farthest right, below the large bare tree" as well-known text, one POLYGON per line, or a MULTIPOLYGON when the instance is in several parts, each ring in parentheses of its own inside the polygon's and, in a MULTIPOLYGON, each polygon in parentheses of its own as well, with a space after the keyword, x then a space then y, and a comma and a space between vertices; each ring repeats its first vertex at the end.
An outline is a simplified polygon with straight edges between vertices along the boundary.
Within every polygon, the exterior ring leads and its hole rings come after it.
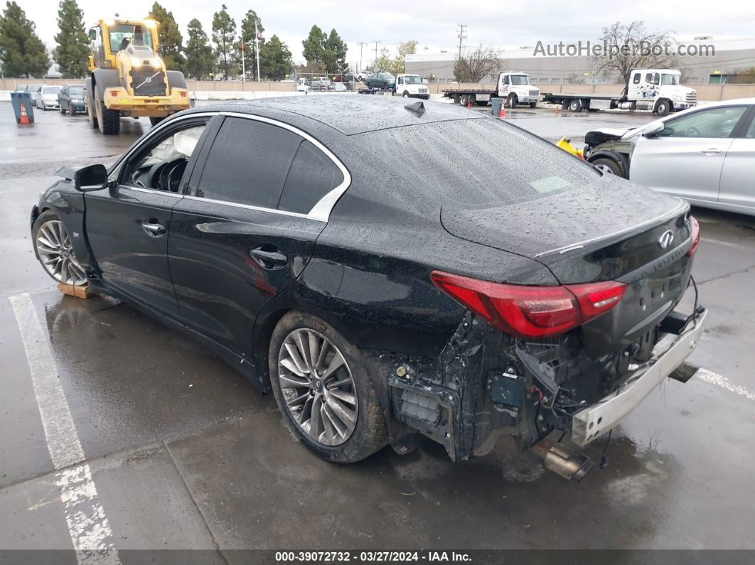
POLYGON ((692 108, 698 103, 698 93, 681 86, 682 73, 676 69, 632 69, 624 91, 611 94, 543 94, 543 102, 560 104, 572 112, 583 110, 624 109, 651 110, 666 115, 692 108))

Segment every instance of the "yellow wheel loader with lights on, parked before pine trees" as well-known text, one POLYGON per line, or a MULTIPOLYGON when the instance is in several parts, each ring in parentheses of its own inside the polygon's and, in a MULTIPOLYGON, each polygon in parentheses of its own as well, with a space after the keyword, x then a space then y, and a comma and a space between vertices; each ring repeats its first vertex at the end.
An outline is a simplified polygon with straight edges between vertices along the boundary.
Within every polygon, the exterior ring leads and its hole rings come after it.
POLYGON ((100 20, 89 30, 92 54, 85 81, 91 127, 118 134, 121 116, 152 124, 189 108, 183 72, 165 69, 153 20, 100 20))

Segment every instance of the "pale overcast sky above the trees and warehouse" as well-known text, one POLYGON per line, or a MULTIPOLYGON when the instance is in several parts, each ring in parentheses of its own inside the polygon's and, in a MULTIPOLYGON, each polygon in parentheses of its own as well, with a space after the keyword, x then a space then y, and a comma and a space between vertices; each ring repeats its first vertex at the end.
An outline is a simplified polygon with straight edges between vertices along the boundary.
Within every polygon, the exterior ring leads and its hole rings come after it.
MULTIPOLYGON (((26 11, 26 17, 37 26, 42 41, 54 47, 57 33, 57 0, 16 0, 26 11)), ((186 24, 196 17, 205 32, 211 36, 212 14, 220 9, 223 0, 164 0, 165 8, 173 12, 181 33, 186 38, 186 24)), ((359 63, 358 41, 370 42, 364 46, 362 64, 374 59, 374 41, 381 40, 378 48, 395 48, 399 41, 416 39, 419 50, 437 53, 441 49, 458 48, 460 23, 467 24, 467 38, 463 45, 470 47, 494 44, 501 48, 535 45, 558 41, 594 40, 601 29, 619 20, 623 23, 644 20, 652 30, 676 31, 681 39, 694 35, 713 35, 716 40, 726 38, 755 39, 755 2, 729 0, 710 2, 687 0, 669 2, 661 0, 627 0, 620 2, 563 2, 563 0, 536 0, 536 2, 445 2, 442 0, 225 0, 228 11, 237 26, 249 8, 254 9, 265 26, 265 35, 276 34, 288 45, 294 60, 304 62, 301 41, 307 37, 313 24, 325 32, 335 28, 347 41, 348 63, 359 63), (470 8, 465 8, 469 6, 470 8), (711 13, 713 12, 713 13, 711 13)), ((79 0, 84 10, 85 23, 90 26, 100 17, 142 18, 153 5, 153 0, 127 2, 101 2, 79 0)))

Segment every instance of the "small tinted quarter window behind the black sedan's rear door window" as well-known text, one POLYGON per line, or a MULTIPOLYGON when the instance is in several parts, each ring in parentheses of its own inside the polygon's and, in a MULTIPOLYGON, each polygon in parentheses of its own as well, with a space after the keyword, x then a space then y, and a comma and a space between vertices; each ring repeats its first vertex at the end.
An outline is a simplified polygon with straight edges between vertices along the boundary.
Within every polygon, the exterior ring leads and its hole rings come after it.
POLYGON ((341 169, 328 155, 304 140, 291 163, 278 207, 288 212, 307 213, 343 182, 341 169))

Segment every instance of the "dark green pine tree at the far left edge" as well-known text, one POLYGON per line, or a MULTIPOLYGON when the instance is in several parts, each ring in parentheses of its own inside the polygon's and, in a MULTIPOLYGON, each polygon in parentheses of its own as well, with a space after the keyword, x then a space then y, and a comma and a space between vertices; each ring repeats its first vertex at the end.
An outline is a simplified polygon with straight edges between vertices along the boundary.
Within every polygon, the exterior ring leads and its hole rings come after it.
POLYGON ((6 76, 42 77, 50 58, 35 30, 34 22, 16 2, 8 2, 0 16, 0 62, 6 76))

